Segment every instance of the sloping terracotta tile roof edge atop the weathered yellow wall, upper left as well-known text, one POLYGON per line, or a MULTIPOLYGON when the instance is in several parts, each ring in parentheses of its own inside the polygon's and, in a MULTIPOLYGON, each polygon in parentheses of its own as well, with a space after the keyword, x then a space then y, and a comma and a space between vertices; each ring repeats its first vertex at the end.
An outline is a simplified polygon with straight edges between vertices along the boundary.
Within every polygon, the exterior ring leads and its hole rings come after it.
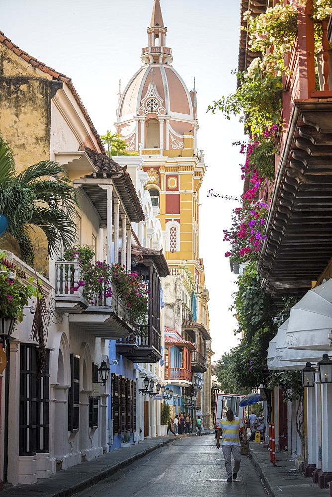
POLYGON ((40 62, 35 57, 32 57, 27 52, 24 52, 23 50, 21 50, 17 45, 12 43, 12 41, 9 38, 7 38, 4 35, 4 33, 2 33, 2 31, 0 31, 0 43, 5 45, 6 47, 8 47, 18 57, 25 60, 29 64, 31 64, 31 66, 34 66, 35 68, 39 69, 40 71, 43 71, 44 73, 49 74, 50 76, 53 77, 54 80, 62 81, 68 85, 68 87, 70 88, 70 90, 71 90, 71 92, 76 100, 76 103, 78 104, 78 106, 82 110, 83 116, 84 116, 86 122, 88 123, 90 130, 92 131, 93 135, 96 138, 96 141, 100 147, 100 150, 102 150, 104 152, 104 146, 101 142, 100 136, 99 136, 97 130, 95 129, 95 127, 93 126, 91 118, 88 115, 88 113, 83 105, 83 102, 80 98, 80 95, 78 94, 75 86, 72 83, 71 78, 68 78, 68 76, 66 76, 62 73, 59 73, 58 71, 55 71, 54 69, 52 69, 49 66, 46 66, 46 64, 44 64, 44 62, 40 62))

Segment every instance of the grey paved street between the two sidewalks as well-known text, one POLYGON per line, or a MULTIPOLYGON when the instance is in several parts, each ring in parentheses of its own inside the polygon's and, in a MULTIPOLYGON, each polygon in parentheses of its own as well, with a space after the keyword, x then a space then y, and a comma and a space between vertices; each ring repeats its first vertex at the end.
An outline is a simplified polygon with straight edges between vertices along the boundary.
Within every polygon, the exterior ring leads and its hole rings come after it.
MULTIPOLYGON (((130 450, 130 449, 128 449, 130 450)), ((248 457, 238 479, 226 481, 214 435, 182 438, 154 451, 78 497, 266 497, 248 457)))

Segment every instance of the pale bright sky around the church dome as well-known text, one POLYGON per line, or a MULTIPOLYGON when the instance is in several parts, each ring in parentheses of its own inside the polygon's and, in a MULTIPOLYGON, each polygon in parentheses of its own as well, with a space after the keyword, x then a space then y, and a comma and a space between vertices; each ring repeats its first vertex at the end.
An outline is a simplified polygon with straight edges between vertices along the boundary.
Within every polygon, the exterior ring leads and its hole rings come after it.
MULTIPOLYGON (((31 56, 72 79, 99 134, 114 130, 119 79, 122 88, 141 66, 153 0, 0 1, 0 30, 31 56)), ((214 100, 236 90, 240 0, 161 0, 166 46, 172 66, 188 89, 196 79, 198 149, 207 172, 200 189, 200 257, 209 289, 212 360, 238 343, 229 311, 236 291, 223 230, 231 226, 232 200, 207 197, 207 191, 240 197, 243 156, 233 142, 244 139, 239 118, 206 112, 214 100)))

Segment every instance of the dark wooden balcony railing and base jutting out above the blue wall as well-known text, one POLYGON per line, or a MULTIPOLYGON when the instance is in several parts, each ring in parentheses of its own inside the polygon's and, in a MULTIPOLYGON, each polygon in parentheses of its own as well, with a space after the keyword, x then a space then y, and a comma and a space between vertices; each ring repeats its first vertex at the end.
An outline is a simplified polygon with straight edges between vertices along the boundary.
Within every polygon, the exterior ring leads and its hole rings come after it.
POLYGON ((127 338, 116 341, 116 353, 133 362, 158 362, 160 353, 160 332, 152 325, 136 326, 127 338))

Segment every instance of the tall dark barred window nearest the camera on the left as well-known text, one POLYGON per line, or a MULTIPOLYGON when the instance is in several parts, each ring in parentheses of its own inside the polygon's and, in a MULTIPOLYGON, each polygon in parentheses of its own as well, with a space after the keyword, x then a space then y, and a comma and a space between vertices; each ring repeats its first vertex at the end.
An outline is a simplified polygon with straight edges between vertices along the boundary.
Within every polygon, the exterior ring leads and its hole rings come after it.
POLYGON ((20 345, 19 455, 49 451, 49 364, 46 350, 45 371, 37 377, 39 348, 33 343, 20 345))

